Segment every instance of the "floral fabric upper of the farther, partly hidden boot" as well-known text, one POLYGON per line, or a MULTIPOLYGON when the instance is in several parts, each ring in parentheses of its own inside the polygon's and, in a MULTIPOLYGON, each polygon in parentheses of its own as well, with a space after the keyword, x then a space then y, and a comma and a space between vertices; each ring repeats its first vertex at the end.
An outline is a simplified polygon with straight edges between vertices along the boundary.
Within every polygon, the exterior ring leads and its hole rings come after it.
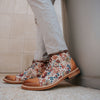
POLYGON ((24 70, 24 72, 16 75, 16 80, 19 81, 39 77, 45 68, 46 65, 44 62, 33 62, 30 67, 24 70))

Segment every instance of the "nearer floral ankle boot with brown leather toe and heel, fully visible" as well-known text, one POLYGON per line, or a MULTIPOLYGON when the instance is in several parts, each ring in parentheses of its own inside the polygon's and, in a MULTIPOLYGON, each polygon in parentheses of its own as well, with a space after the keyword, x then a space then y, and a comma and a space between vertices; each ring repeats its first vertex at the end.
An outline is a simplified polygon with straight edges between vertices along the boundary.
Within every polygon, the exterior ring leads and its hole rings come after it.
POLYGON ((72 78, 80 73, 68 50, 50 55, 46 70, 38 78, 28 79, 22 85, 27 90, 45 90, 59 84, 65 78, 72 78))

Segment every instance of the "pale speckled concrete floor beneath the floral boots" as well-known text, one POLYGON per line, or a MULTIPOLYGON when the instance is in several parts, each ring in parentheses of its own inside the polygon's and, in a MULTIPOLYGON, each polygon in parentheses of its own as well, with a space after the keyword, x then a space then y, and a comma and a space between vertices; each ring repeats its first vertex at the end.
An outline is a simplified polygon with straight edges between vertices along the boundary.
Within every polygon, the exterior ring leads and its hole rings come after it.
POLYGON ((21 84, 7 84, 0 74, 0 100, 100 100, 100 90, 82 86, 73 86, 65 81, 53 89, 28 91, 20 88, 21 84))

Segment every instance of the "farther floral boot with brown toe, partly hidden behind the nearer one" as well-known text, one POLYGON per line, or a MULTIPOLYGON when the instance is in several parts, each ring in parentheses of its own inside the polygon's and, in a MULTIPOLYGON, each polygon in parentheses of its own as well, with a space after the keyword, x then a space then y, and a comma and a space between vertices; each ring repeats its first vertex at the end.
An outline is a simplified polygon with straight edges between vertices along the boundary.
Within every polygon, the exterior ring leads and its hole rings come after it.
POLYGON ((24 80, 39 77, 46 69, 47 61, 34 61, 32 65, 18 75, 7 75, 3 79, 6 83, 21 84, 24 80))

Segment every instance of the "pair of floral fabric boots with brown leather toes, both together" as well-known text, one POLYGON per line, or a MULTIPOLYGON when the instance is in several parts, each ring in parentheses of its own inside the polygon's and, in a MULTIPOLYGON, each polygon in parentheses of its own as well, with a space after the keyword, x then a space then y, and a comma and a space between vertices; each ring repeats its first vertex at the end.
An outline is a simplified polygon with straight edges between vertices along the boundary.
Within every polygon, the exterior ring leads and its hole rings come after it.
POLYGON ((3 80, 13 84, 22 83, 22 89, 45 90, 80 73, 68 50, 49 56, 49 61, 33 61, 23 73, 7 75, 3 80))

